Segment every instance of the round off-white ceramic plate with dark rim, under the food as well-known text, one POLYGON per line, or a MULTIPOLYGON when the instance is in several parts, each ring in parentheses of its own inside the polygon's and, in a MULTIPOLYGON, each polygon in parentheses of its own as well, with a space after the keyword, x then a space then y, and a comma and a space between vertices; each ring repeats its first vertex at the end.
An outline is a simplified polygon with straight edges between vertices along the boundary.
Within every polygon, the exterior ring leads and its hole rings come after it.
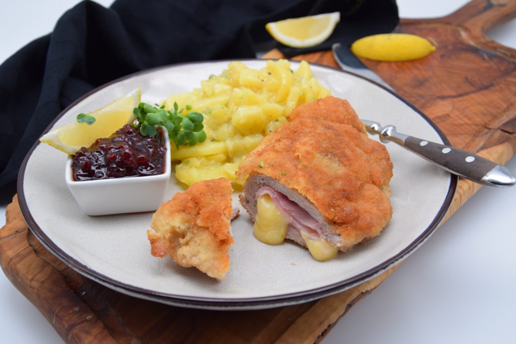
MULTIPOLYGON (((263 60, 245 60, 251 68, 263 60)), ((293 69, 297 63, 293 63, 293 69)), ((170 93, 199 87, 228 61, 171 65, 136 73, 88 93, 47 130, 74 120, 141 87, 142 101, 159 102, 170 93)), ((402 133, 448 143, 422 113, 398 95, 356 75, 312 65, 314 75, 333 95, 348 99, 360 117, 396 125, 402 133)), ((99 283, 136 297, 199 308, 251 309, 317 299, 374 277, 413 252, 435 230, 454 194, 457 178, 405 151, 387 145, 394 164, 391 181, 393 218, 382 234, 333 260, 318 263, 307 250, 286 242, 278 247, 253 237, 252 223, 240 207, 232 222, 235 244, 224 281, 150 254, 146 231, 152 213, 91 217, 83 214, 68 190, 63 171, 66 154, 36 143, 18 178, 23 215, 38 239, 58 258, 99 283)), ((182 191, 171 178, 166 197, 182 191)), ((135 201, 138 195, 134 195, 135 201)))

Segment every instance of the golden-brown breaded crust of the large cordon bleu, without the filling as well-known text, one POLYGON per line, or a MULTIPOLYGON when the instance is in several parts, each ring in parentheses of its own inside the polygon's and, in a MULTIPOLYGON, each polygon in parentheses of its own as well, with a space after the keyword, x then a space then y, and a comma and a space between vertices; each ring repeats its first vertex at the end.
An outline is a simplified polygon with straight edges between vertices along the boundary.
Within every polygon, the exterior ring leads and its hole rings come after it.
POLYGON ((349 103, 326 97, 298 106, 240 163, 237 177, 262 173, 296 189, 318 209, 344 249, 380 234, 392 216, 392 163, 369 139, 349 103))

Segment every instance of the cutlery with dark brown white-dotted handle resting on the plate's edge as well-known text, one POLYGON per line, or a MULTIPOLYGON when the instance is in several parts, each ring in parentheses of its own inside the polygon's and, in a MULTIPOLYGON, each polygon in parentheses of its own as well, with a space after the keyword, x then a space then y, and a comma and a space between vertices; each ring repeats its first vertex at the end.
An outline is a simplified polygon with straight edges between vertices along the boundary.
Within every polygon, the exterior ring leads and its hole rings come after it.
POLYGON ((361 121, 368 133, 380 136, 381 142, 395 142, 446 171, 472 182, 496 187, 512 186, 516 183, 516 176, 508 168, 479 155, 398 133, 393 125, 382 127, 377 122, 361 121))

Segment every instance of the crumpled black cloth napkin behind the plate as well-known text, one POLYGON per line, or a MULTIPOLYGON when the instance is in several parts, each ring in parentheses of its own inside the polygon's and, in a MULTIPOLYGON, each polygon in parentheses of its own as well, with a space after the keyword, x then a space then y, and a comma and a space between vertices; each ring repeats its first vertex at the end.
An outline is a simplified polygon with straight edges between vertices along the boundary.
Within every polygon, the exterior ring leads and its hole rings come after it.
POLYGON ((271 41, 265 24, 341 11, 341 23, 320 46, 390 32, 395 0, 117 0, 73 7, 54 31, 0 65, 0 190, 14 192, 23 158, 52 120, 78 97, 110 80, 185 61, 255 57, 271 41), (9 191, 7 191, 9 190, 9 191))

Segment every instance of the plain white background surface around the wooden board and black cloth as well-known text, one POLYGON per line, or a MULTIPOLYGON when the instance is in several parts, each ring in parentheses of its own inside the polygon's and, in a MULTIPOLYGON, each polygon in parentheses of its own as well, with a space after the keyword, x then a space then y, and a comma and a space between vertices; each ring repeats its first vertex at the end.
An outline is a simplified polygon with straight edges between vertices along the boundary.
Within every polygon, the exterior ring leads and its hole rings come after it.
MULTIPOLYGON (((111 0, 99 3, 108 6, 111 0)), ((75 0, 3 3, 0 61, 50 32, 75 0), (29 10, 30 9, 30 10, 29 10)), ((463 0, 398 0, 400 17, 442 17, 463 0)), ((490 32, 516 48, 516 21, 490 32)), ((516 94, 516 92, 515 92, 516 94)), ((395 123, 393 123, 395 124, 395 123)), ((516 171, 516 158, 507 166, 516 171)), ((484 187, 335 326, 334 343, 509 343, 516 320, 516 187, 484 187)), ((0 205, 4 214, 5 205, 0 205)), ((0 218, 3 225, 4 218, 0 218)), ((0 333, 6 343, 59 343, 53 327, 0 274, 0 333)))

